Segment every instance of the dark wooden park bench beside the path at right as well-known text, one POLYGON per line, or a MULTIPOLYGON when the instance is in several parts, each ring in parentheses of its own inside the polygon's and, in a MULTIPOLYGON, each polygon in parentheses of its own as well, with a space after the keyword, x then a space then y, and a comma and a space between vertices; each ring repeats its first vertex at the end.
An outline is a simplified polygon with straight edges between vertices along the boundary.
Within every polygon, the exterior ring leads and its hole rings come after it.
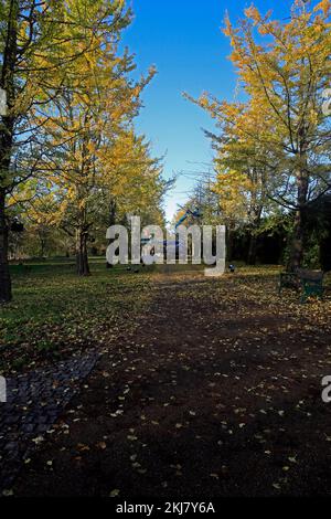
POLYGON ((321 271, 308 271, 298 268, 296 272, 282 272, 279 278, 279 295, 282 288, 301 289, 300 303, 306 303, 311 296, 322 299, 323 273, 321 271))

